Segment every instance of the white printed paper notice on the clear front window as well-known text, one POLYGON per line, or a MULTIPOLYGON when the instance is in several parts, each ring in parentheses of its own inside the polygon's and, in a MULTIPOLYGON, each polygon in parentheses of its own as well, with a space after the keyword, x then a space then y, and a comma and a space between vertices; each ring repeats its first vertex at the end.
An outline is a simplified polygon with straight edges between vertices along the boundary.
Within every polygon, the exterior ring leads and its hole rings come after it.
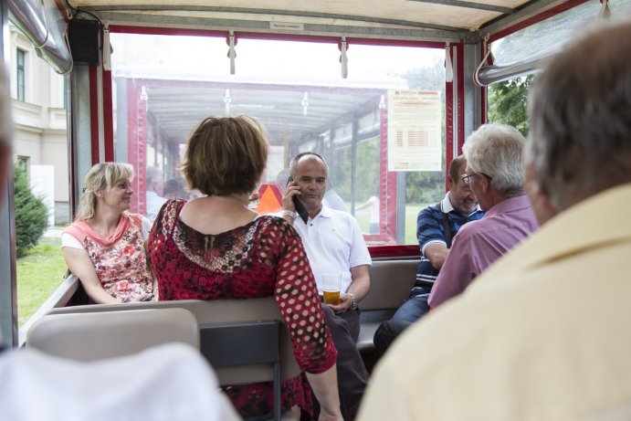
POLYGON ((440 92, 388 91, 388 171, 440 171, 440 92))

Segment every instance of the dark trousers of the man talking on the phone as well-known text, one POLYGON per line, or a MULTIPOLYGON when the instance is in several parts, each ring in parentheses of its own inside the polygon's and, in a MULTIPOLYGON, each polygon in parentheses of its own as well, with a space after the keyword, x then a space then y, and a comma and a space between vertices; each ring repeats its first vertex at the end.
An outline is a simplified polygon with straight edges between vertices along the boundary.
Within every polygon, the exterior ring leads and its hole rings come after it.
POLYGON ((360 330, 360 312, 348 310, 335 314, 325 304, 322 304, 322 309, 338 351, 337 382, 340 406, 344 420, 349 421, 357 415, 363 391, 368 384, 368 372, 355 344, 360 330))

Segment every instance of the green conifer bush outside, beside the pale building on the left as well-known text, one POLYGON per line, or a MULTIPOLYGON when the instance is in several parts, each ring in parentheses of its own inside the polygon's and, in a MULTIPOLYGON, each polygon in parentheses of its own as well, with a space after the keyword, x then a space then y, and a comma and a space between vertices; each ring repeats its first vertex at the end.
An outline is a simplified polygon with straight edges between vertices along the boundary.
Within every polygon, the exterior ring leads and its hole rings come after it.
POLYGON ((28 186, 26 172, 14 167, 14 189, 16 204, 16 253, 22 258, 26 250, 37 246, 39 238, 48 226, 48 210, 42 199, 33 195, 28 186))

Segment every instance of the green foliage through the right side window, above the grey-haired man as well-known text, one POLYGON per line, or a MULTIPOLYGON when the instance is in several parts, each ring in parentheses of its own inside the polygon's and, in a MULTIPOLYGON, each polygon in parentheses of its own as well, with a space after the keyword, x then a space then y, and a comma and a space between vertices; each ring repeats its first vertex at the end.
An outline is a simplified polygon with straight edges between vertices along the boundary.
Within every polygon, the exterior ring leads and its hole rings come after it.
POLYGON ((528 136, 526 106, 534 75, 494 83, 489 87, 489 122, 516 127, 528 136))

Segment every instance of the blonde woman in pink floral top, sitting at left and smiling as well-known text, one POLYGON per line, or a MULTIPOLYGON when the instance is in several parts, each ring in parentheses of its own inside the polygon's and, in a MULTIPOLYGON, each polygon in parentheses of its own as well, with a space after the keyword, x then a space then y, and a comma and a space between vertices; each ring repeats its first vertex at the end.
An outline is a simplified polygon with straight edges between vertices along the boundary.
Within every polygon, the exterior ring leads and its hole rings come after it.
POLYGON ((97 163, 86 174, 77 218, 61 236, 61 253, 96 303, 151 300, 153 278, 144 240, 147 218, 130 214, 133 168, 97 163))

